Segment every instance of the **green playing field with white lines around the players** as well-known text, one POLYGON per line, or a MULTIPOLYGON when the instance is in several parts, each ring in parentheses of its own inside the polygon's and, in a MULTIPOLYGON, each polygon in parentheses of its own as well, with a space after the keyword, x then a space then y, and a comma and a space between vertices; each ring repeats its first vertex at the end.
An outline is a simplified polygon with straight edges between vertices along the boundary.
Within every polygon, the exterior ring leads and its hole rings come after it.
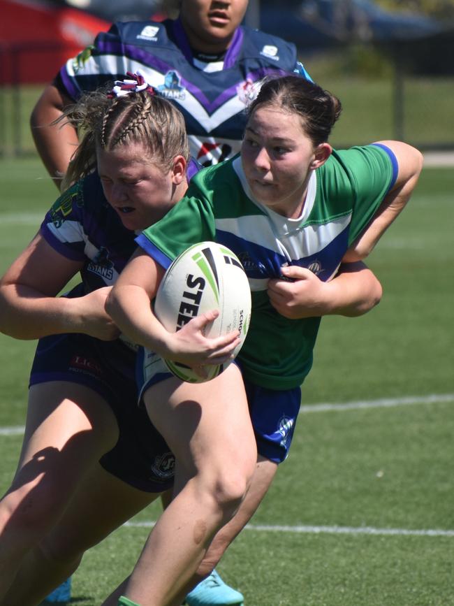
MULTIPOLYGON (((36 159, 0 161, 0 180, 3 271, 57 189, 36 159)), ((369 259, 380 305, 323 319, 291 455, 218 568, 245 606, 454 605, 453 192, 452 169, 425 169, 369 259)), ((1 490, 33 349, 0 336, 1 490)), ((158 514, 150 507, 87 553, 72 603, 102 602, 158 514)))

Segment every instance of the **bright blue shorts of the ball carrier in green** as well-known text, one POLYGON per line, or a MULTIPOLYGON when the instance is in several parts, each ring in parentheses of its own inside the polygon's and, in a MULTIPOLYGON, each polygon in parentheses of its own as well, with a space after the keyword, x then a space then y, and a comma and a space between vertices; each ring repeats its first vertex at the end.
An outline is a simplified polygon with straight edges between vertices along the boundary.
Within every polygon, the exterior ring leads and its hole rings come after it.
MULTIPOLYGON (((239 361, 235 360, 234 363, 242 370, 239 361)), ((149 387, 170 377, 173 375, 159 356, 148 349, 139 348, 137 356, 139 401, 149 387)), ((288 456, 295 431, 296 418, 301 405, 301 389, 300 387, 285 390, 267 389, 251 383, 244 377, 243 380, 258 454, 274 463, 282 463, 288 456)))

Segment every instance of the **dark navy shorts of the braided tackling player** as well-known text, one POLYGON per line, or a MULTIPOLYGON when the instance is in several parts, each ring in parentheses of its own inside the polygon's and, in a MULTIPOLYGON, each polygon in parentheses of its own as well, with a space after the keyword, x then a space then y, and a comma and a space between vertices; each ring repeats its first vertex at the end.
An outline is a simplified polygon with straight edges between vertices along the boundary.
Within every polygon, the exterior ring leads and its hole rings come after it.
POLYGON ((30 385, 70 381, 90 387, 110 405, 119 438, 102 456, 101 466, 123 482, 146 492, 173 486, 175 457, 137 405, 136 352, 120 340, 100 341, 82 334, 39 340, 30 385))

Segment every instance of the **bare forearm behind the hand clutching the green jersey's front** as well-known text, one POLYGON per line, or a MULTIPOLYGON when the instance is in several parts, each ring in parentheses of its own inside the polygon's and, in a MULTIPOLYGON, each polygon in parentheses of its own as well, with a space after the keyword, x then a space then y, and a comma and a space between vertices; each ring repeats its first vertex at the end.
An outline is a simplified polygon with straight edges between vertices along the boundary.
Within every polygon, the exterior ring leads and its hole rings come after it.
POLYGON ((328 282, 330 315, 356 317, 378 305, 382 289, 379 280, 361 261, 342 264, 337 276, 328 282))

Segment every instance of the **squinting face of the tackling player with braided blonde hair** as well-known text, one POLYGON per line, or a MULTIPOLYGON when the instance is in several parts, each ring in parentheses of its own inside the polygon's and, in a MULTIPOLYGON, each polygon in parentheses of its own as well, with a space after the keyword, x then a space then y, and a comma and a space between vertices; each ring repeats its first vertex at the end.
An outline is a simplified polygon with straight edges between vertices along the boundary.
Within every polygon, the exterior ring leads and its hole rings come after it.
POLYGON ((186 161, 174 159, 167 173, 141 143, 96 149, 98 174, 108 203, 126 229, 138 231, 159 221, 186 191, 186 161))

